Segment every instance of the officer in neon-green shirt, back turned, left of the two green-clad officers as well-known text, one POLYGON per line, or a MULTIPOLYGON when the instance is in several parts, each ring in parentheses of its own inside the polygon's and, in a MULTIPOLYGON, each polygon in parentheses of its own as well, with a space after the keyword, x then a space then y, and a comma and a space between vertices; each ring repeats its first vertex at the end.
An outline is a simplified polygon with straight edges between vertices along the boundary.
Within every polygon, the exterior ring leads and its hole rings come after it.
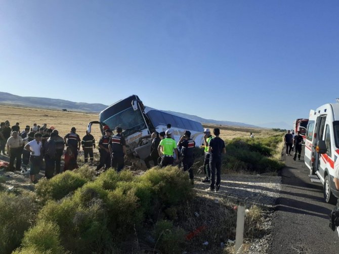
POLYGON ((176 154, 176 162, 178 163, 178 149, 176 141, 171 137, 172 131, 170 129, 165 132, 166 137, 161 139, 158 146, 159 156, 162 158, 160 167, 165 167, 167 165, 173 165, 174 162, 174 153, 176 154))

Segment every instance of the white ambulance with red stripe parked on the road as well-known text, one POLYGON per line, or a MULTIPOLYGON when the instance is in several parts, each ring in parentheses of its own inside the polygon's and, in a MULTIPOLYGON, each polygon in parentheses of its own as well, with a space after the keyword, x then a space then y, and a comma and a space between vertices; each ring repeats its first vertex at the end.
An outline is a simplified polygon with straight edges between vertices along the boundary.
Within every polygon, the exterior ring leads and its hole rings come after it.
POLYGON ((333 181, 334 162, 338 157, 339 101, 310 111, 305 140, 305 164, 310 169, 310 177, 319 178, 324 186, 325 201, 331 204, 339 197, 333 181))

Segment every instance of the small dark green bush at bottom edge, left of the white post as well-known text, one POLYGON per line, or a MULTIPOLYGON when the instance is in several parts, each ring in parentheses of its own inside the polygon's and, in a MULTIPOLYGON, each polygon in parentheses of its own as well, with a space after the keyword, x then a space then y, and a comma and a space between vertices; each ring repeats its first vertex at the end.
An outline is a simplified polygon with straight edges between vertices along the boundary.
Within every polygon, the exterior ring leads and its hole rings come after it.
POLYGON ((185 231, 179 227, 174 227, 173 222, 161 220, 155 224, 154 239, 155 249, 161 253, 181 253, 182 245, 185 241, 185 231))

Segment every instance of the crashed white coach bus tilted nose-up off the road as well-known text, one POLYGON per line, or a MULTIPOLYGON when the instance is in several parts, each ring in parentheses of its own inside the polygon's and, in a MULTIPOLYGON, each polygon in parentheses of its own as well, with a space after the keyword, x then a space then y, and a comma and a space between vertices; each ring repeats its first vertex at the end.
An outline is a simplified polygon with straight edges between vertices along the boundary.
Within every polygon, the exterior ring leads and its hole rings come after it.
POLYGON ((103 135, 105 125, 113 130, 117 126, 121 127, 128 155, 142 160, 150 154, 151 133, 165 131, 167 124, 172 125, 172 137, 177 142, 183 132, 189 130, 196 145, 203 143, 201 123, 145 107, 137 95, 121 99, 103 110, 99 114, 99 121, 89 123, 89 132, 93 124, 100 124, 103 135))

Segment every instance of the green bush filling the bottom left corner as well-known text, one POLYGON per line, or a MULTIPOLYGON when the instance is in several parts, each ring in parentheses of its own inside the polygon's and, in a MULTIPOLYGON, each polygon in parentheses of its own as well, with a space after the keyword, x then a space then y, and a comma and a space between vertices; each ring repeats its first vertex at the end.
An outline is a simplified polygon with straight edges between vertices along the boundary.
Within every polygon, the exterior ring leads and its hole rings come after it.
POLYGON ((11 253, 20 245, 25 230, 35 220, 38 207, 33 193, 23 192, 21 196, 0 192, 0 249, 11 253))

